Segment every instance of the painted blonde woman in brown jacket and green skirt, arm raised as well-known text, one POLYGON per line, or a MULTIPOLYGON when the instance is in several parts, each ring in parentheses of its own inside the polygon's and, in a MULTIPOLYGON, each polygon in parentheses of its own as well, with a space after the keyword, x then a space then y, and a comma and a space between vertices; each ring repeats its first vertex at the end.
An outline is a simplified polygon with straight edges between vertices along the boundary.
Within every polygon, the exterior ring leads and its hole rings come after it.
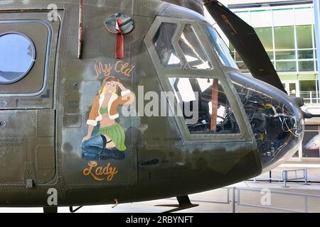
POLYGON ((127 150, 124 128, 116 119, 119 118, 118 107, 134 102, 134 94, 126 89, 117 77, 103 80, 99 94, 93 101, 87 120, 87 135, 82 139, 82 158, 85 160, 122 160, 127 150), (117 89, 121 89, 121 96, 117 89), (92 137, 92 131, 100 122, 98 135, 92 137))

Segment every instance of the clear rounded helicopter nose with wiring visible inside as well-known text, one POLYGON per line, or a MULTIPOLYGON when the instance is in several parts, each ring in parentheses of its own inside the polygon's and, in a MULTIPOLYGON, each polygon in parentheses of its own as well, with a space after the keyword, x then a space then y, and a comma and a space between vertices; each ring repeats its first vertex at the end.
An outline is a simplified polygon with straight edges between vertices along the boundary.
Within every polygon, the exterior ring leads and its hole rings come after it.
POLYGON ((282 164, 299 149, 304 117, 297 101, 252 77, 230 74, 250 122, 260 154, 262 172, 282 164))

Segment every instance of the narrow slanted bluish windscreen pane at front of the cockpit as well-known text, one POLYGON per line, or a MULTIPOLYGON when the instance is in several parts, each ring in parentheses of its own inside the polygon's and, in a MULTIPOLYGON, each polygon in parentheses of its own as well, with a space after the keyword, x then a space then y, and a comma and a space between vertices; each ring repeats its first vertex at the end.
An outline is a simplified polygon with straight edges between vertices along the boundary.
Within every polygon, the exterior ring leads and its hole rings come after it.
POLYGON ((222 38, 220 38, 218 33, 215 31, 215 28, 209 25, 206 26, 204 30, 223 65, 238 69, 238 66, 235 64, 233 57, 231 57, 230 55, 230 51, 223 42, 222 38))

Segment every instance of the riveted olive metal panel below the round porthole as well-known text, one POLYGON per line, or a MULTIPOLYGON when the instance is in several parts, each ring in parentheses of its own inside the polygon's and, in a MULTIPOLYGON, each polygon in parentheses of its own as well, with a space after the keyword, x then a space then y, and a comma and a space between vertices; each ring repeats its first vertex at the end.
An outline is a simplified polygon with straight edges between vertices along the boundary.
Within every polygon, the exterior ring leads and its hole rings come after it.
POLYGON ((50 182, 55 175, 54 110, 1 111, 0 184, 50 182), (41 130, 46 129, 39 133, 41 130))

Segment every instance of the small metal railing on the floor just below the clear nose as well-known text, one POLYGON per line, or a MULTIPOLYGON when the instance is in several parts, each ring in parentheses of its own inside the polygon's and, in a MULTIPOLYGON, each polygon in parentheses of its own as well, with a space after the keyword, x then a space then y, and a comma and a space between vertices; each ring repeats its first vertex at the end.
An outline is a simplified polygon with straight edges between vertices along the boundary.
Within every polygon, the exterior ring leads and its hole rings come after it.
POLYGON ((267 179, 275 182, 283 182, 282 187, 288 187, 287 182, 295 181, 298 179, 303 179, 304 184, 308 184, 308 170, 307 169, 299 169, 299 170, 283 170, 282 171, 282 178, 274 178, 274 177, 255 177, 253 178, 253 182, 257 182, 259 179, 267 179), (294 172, 294 177, 290 177, 288 173, 294 172), (303 177, 298 176, 298 172, 303 172, 303 177))

